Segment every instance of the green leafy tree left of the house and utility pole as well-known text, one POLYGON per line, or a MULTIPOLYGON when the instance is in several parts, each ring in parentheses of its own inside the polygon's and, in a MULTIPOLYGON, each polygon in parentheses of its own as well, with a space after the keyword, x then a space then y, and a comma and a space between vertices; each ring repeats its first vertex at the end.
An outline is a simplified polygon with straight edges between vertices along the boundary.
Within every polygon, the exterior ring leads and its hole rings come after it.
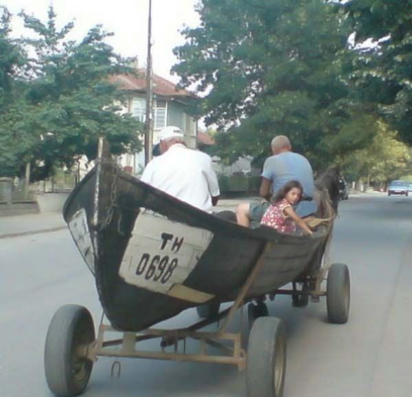
POLYGON ((14 169, 30 161, 34 176, 46 178, 56 166, 71 167, 83 155, 95 158, 99 136, 106 136, 114 154, 140 149, 142 126, 122 114, 124 97, 109 82, 113 74, 130 72, 128 60, 104 43, 111 34, 96 26, 76 43, 66 38, 73 23, 57 29, 52 7, 46 23, 19 15, 36 38, 21 41, 35 55, 27 62, 30 73, 21 73, 19 106, 8 113, 8 139, 19 153, 14 169))

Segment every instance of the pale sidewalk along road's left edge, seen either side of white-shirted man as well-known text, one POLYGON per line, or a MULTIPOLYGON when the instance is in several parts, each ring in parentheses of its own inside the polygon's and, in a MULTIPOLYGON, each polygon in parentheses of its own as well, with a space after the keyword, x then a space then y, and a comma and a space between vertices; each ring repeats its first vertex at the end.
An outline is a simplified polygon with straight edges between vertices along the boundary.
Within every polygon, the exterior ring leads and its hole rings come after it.
MULTIPOLYGON (((239 197, 219 200, 217 211, 235 210, 241 202, 250 202, 255 197, 239 197)), ((60 212, 14 215, 0 217, 0 239, 25 236, 27 234, 56 232, 67 228, 60 212)))

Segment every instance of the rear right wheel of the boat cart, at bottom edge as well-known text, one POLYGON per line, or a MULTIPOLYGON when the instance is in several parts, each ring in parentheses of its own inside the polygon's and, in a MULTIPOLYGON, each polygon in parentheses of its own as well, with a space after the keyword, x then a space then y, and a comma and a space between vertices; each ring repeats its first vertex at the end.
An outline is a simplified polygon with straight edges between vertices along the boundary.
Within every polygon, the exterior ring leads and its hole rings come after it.
POLYGON ((261 317, 253 324, 247 351, 248 397, 282 397, 286 373, 286 330, 282 320, 261 317))

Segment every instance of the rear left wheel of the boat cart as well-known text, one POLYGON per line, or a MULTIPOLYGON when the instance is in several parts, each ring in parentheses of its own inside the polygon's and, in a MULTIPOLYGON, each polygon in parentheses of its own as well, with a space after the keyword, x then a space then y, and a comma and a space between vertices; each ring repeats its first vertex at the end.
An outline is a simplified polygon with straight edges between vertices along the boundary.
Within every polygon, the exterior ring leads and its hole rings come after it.
POLYGON ((93 361, 80 357, 78 350, 94 340, 93 319, 85 307, 66 304, 54 313, 45 343, 45 375, 56 396, 78 396, 84 392, 93 361))

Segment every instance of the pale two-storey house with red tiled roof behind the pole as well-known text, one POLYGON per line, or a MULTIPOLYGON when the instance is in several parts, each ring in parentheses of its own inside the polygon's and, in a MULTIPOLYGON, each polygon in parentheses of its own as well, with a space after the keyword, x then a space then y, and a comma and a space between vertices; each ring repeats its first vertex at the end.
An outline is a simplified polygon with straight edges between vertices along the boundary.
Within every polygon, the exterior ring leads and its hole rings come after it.
MULTIPOLYGON (((126 111, 137 117, 139 121, 146 121, 146 70, 137 69, 138 75, 122 74, 111 77, 111 82, 126 92, 126 111)), ((165 80, 159 75, 153 75, 153 116, 154 131, 153 143, 159 142, 157 134, 166 125, 175 125, 185 133, 187 147, 197 147, 197 121, 187 112, 187 106, 196 95, 165 80)), ((119 159, 123 167, 132 173, 139 174, 144 168, 144 152, 124 154, 119 159)))

